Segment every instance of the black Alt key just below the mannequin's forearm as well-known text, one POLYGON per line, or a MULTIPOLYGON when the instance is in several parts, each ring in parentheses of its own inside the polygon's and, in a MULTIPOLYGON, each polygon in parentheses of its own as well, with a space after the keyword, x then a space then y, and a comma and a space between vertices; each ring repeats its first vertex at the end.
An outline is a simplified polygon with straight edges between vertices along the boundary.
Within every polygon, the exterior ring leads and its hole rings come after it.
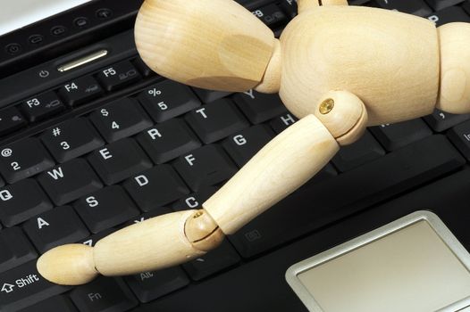
POLYGON ((189 284, 189 278, 180 267, 169 267, 155 272, 142 272, 125 277, 130 289, 140 302, 149 302, 189 284))

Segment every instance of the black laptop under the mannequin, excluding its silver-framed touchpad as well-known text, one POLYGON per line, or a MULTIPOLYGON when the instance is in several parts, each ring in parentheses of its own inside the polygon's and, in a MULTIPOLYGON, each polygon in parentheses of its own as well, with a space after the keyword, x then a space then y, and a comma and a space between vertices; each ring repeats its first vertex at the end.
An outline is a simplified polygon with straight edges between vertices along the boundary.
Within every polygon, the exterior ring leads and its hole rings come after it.
MULTIPOLYGON (((280 36, 293 0, 239 0, 280 36)), ((418 210, 469 250, 470 115, 369 128, 297 192, 179 267, 48 283, 38 257, 195 209, 297 119, 276 94, 159 77, 133 38, 139 0, 16 0, 0 12, 0 311, 290 311, 296 263, 418 210), (205 108, 214 119, 200 119, 205 108), (189 166, 188 160, 201 160, 189 166)), ((352 0, 470 22, 470 1, 352 0)))

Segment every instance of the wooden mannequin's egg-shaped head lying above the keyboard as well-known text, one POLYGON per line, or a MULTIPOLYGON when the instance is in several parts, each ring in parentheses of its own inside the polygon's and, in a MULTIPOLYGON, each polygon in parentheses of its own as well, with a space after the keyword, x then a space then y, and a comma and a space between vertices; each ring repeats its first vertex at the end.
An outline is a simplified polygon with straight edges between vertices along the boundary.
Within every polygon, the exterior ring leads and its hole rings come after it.
POLYGON ((160 75, 224 91, 258 85, 273 31, 231 0, 147 0, 135 25, 138 53, 160 75))

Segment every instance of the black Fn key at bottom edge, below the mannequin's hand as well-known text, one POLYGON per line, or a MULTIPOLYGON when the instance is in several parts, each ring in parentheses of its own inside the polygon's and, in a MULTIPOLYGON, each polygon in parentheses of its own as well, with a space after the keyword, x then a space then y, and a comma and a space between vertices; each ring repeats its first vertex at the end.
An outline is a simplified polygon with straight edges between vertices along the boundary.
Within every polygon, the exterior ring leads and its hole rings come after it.
POLYGON ((98 277, 71 291, 71 300, 80 312, 125 312, 138 301, 120 278, 98 277))

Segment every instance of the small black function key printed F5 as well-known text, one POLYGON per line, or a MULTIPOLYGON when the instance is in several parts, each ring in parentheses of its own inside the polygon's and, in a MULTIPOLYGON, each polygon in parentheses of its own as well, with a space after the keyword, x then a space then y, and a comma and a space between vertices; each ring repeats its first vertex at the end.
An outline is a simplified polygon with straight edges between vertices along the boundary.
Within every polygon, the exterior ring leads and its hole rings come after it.
POLYGON ((101 70, 97 79, 106 91, 115 91, 137 82, 141 76, 129 61, 123 61, 101 70))

